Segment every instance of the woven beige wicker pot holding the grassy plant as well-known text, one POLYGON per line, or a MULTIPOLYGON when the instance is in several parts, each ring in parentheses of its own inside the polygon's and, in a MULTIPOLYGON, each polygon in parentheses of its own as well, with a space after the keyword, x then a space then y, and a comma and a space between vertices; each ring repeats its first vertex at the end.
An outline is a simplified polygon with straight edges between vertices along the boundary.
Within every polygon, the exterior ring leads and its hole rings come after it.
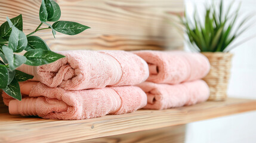
POLYGON ((211 64, 211 70, 203 78, 210 88, 208 100, 226 100, 233 54, 229 52, 202 52, 202 54, 208 58, 211 64))

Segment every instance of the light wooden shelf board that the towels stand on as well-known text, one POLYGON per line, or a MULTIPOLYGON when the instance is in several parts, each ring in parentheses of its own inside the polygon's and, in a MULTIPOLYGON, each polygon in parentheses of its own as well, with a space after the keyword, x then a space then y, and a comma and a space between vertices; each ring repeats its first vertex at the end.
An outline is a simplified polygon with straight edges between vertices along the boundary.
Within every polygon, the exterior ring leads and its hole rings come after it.
POLYGON ((141 130, 184 125, 199 120, 256 110, 256 100, 229 98, 169 110, 134 113, 86 120, 47 120, 0 114, 0 142, 72 142, 141 130))

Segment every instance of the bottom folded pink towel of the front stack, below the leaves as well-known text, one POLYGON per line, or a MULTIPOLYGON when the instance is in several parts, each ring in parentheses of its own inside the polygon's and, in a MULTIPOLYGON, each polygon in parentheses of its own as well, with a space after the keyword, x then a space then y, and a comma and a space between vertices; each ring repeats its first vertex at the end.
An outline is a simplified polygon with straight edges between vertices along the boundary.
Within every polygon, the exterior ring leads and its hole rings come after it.
POLYGON ((45 119, 90 119, 106 114, 131 113, 147 104, 147 95, 137 86, 67 91, 49 88, 39 82, 24 82, 20 87, 21 101, 2 94, 10 114, 45 119))

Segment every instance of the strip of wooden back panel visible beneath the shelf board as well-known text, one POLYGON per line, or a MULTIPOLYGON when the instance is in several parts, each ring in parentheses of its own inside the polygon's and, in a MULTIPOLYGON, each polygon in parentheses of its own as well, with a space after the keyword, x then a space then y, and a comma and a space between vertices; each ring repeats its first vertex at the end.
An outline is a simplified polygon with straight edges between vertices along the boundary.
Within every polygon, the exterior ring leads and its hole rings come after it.
POLYGON ((104 138, 88 139, 76 143, 184 143, 186 125, 146 130, 104 138))

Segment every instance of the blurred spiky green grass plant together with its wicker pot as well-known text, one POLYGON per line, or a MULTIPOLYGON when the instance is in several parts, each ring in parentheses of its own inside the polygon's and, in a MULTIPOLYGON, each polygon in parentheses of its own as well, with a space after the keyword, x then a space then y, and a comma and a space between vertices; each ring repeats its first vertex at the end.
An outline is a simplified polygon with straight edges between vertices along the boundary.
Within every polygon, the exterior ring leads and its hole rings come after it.
MULTIPOLYGON (((211 64, 209 74, 203 79, 210 88, 209 100, 219 101, 227 98, 226 92, 233 55, 230 50, 239 44, 230 45, 251 26, 249 24, 251 15, 238 21, 239 9, 240 5, 234 11, 232 3, 224 11, 223 1, 218 5, 212 2, 209 7, 205 8, 203 21, 199 20, 196 10, 193 18, 189 18, 186 11, 184 17, 181 18, 190 48, 205 55, 211 64)), ((245 41, 238 43, 243 42, 245 41)))

